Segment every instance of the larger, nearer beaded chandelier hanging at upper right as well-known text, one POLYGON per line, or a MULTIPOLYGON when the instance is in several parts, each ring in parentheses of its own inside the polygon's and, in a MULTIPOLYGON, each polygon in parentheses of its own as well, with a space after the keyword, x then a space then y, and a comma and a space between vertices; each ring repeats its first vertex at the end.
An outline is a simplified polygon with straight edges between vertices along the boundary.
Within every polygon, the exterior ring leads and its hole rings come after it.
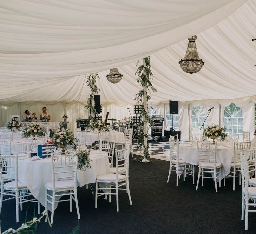
POLYGON ((184 72, 193 74, 201 70, 204 61, 199 58, 196 48, 197 36, 191 36, 188 38, 189 44, 185 57, 179 61, 179 65, 184 72))

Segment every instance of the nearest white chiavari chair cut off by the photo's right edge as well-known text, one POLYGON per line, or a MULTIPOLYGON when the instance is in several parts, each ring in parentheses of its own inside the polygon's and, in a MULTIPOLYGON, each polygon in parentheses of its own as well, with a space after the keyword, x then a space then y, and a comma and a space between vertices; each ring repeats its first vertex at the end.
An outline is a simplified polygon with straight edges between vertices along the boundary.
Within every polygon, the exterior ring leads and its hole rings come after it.
POLYGON ((245 155, 240 153, 240 162, 241 162, 241 177, 242 177, 242 215, 241 220, 244 220, 244 210, 245 210, 245 227, 244 229, 248 230, 248 213, 256 212, 256 210, 249 210, 249 206, 255 207, 256 199, 256 187, 249 187, 249 169, 248 162, 245 155))

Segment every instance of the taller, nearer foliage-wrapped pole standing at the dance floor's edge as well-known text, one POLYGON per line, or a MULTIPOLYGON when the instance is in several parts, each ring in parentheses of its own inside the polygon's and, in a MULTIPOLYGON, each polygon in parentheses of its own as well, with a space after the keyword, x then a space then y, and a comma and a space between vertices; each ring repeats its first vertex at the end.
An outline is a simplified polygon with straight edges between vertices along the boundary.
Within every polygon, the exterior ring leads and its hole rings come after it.
MULTIPOLYGON (((139 61, 138 61, 139 63, 139 61)), ((137 66, 138 66, 137 63, 137 66)), ((154 127, 153 121, 150 119, 150 116, 147 114, 147 101, 151 99, 151 91, 156 92, 157 90, 152 85, 152 72, 150 70, 150 57, 146 57, 143 59, 143 65, 140 65, 135 75, 138 75, 137 83, 140 83, 140 85, 143 87, 142 90, 139 91, 135 95, 134 100, 138 102, 138 104, 141 105, 141 114, 142 121, 138 123, 137 130, 138 130, 138 139, 136 141, 136 149, 143 149, 143 156, 141 158, 136 158, 136 161, 142 161, 142 162, 152 162, 150 153, 149 153, 149 141, 147 139, 148 137, 148 129, 147 126, 154 127)))

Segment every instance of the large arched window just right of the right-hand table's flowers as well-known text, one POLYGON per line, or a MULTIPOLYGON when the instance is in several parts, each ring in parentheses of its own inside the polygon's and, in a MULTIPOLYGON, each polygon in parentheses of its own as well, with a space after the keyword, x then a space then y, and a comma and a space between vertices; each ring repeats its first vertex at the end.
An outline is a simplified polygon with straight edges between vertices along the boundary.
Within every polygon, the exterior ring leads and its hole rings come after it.
POLYGON ((227 134, 243 134, 242 110, 233 102, 224 109, 224 127, 227 134))

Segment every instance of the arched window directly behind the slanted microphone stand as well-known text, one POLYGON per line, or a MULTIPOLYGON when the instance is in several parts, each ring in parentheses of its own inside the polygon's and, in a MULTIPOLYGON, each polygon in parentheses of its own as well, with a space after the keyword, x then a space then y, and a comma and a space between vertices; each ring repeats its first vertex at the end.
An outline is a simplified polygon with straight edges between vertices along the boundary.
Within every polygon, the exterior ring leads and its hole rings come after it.
MULTIPOLYGON (((202 105, 193 106, 191 118, 192 118, 193 134, 197 134, 197 133, 199 133, 199 129, 201 128, 201 126, 206 118, 206 109, 202 105)), ((206 127, 206 123, 205 123, 205 127, 206 127)), ((203 132, 202 129, 201 129, 201 131, 203 132)))

